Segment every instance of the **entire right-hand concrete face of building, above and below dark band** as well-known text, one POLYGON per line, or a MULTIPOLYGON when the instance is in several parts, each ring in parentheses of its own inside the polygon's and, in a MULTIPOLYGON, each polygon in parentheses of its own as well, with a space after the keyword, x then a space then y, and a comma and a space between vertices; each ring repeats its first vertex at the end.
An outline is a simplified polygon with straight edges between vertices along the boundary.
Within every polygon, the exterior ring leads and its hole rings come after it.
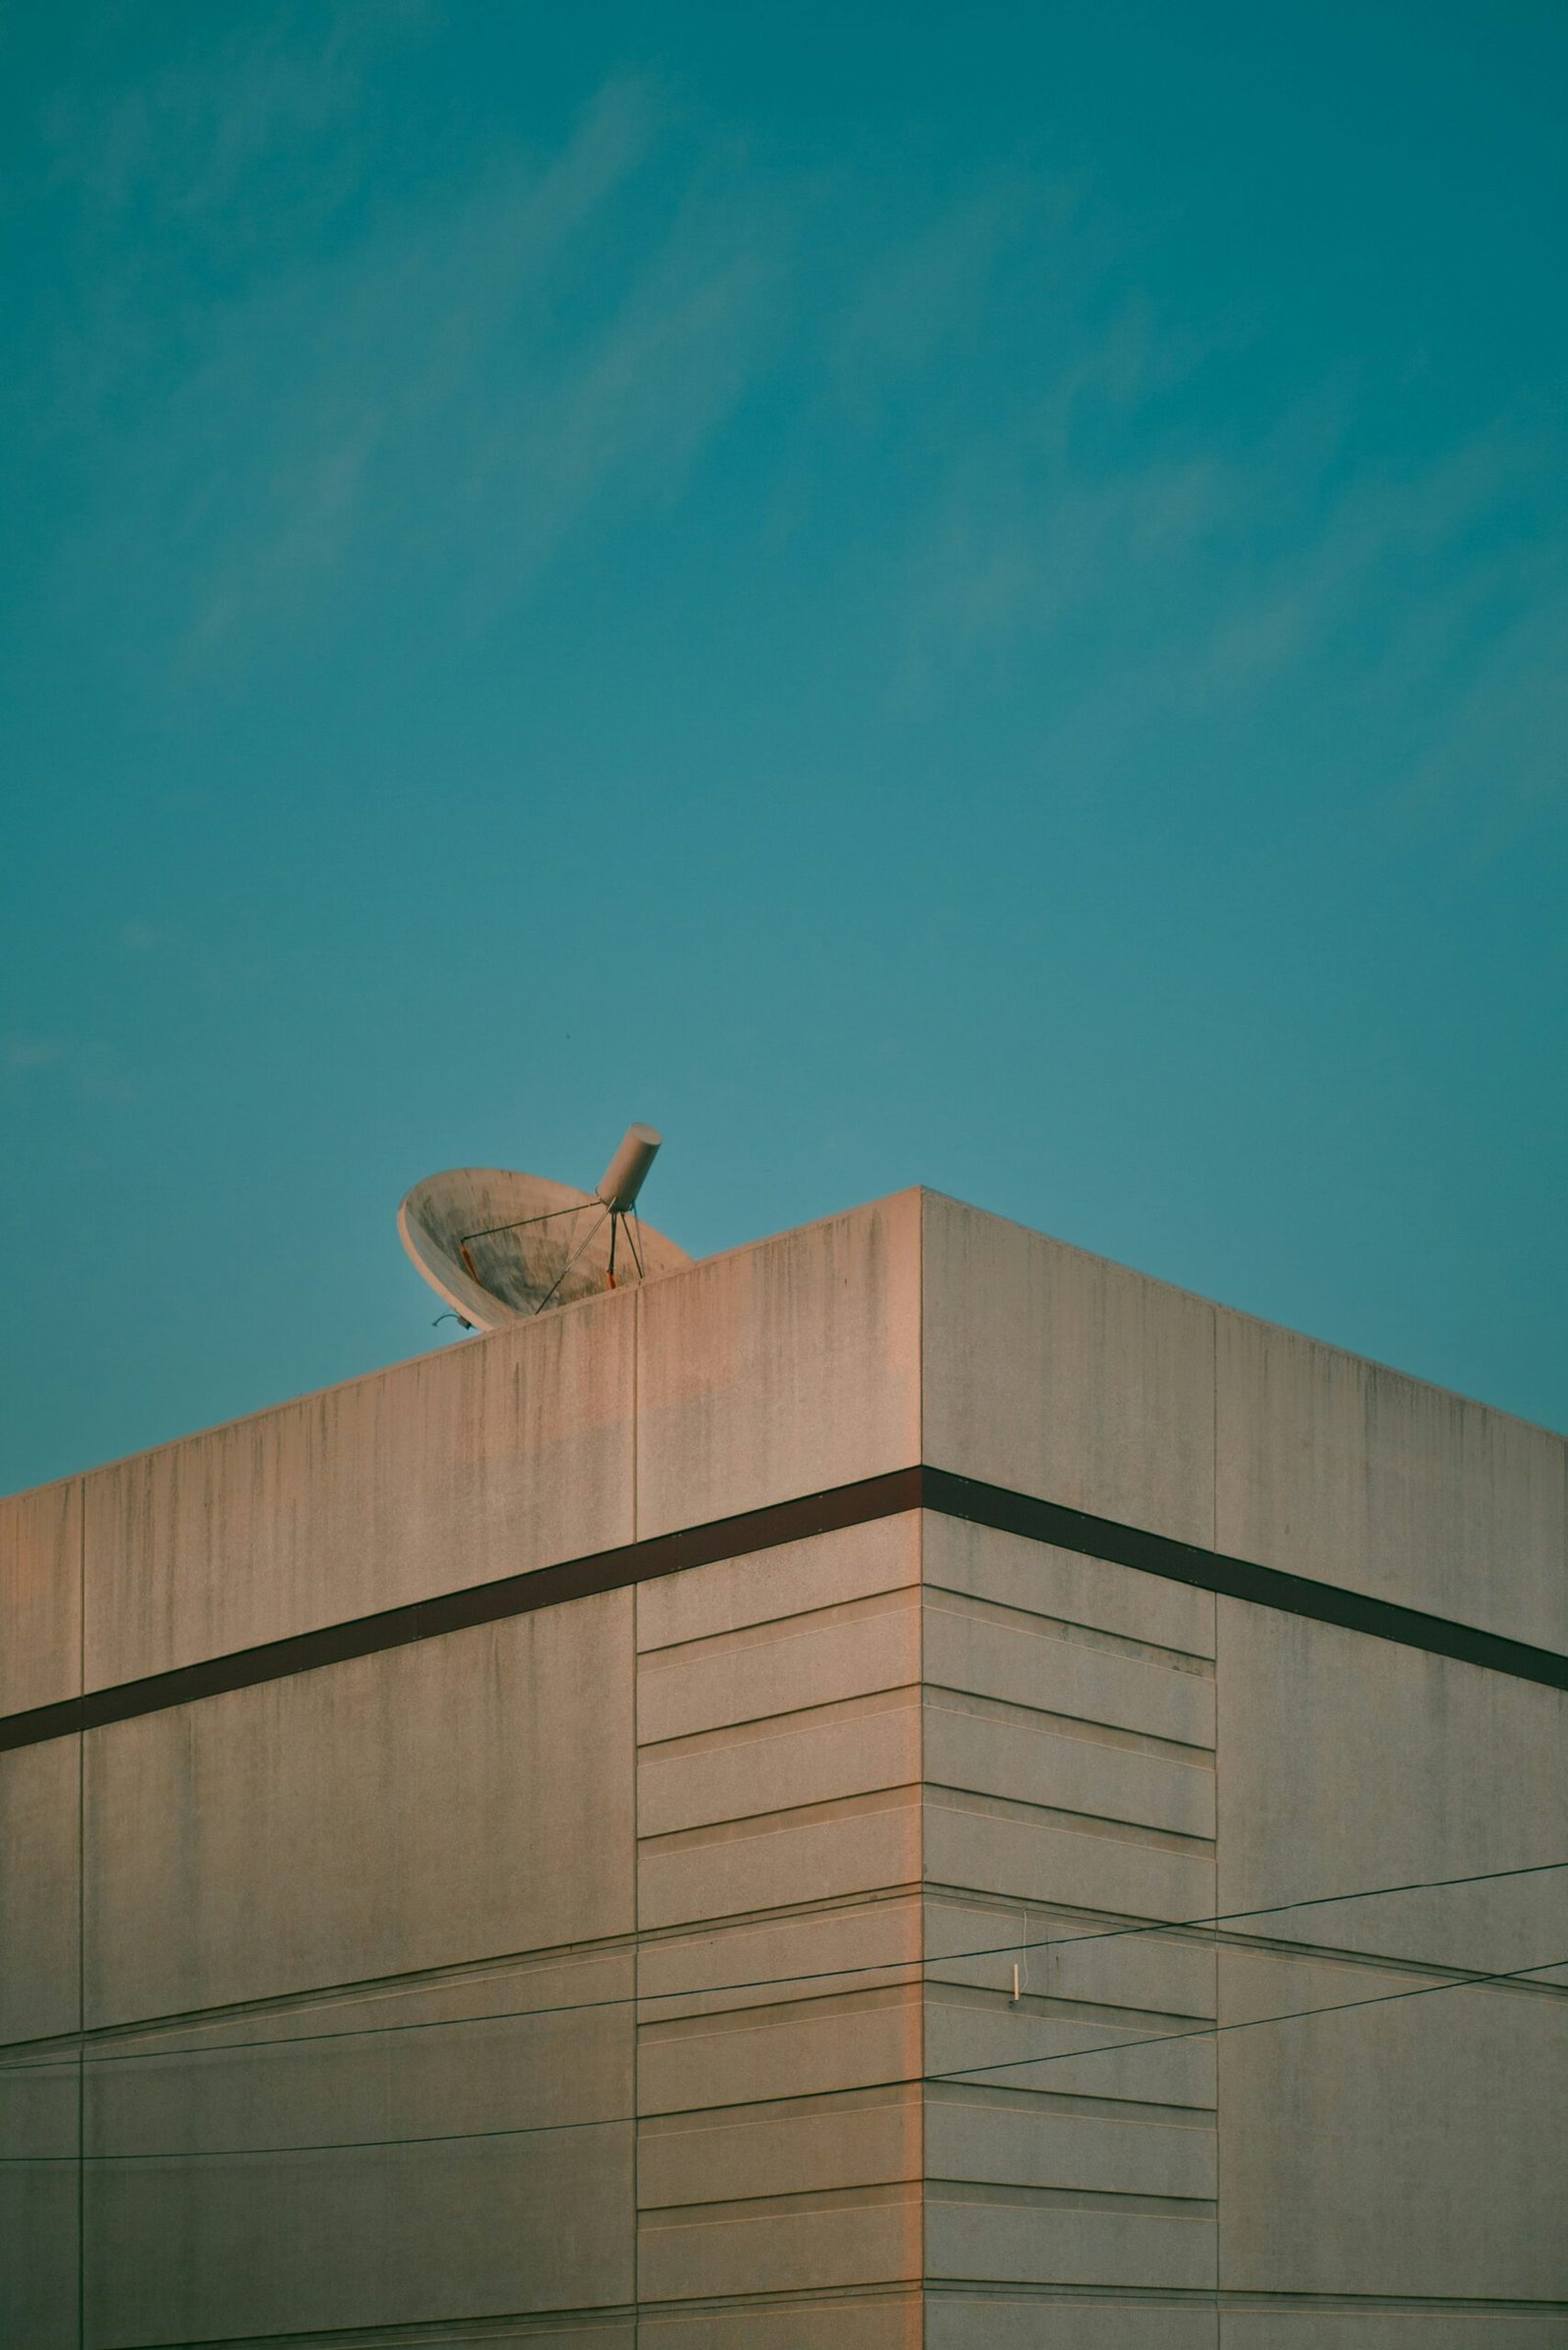
MULTIPOLYGON (((954 1201, 924 1234, 929 1462, 1568 1647, 1559 1436, 954 1201)), ((1568 2343, 1568 1969, 1436 1990, 1568 1955, 1568 1871, 1067 1939, 1568 1859, 1568 1697, 952 1520, 924 1584, 929 2070, 1051 2056, 929 2089, 926 2343, 1568 2343), (940 1962, 987 1932, 1051 1936, 1020 2002, 1023 1950, 940 1962)))

